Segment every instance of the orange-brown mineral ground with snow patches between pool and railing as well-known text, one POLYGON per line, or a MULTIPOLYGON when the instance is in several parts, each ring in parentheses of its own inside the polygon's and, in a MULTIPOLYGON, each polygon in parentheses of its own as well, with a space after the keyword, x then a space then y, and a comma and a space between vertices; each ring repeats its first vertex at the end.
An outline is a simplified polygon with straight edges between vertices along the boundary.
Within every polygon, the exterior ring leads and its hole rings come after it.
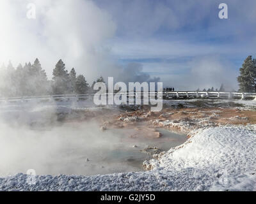
MULTIPOLYGON (((256 104, 256 101, 254 101, 256 104)), ((254 106, 234 103, 211 104, 207 101, 176 103, 164 106, 161 112, 150 112, 148 107, 116 112, 97 118, 102 122, 102 130, 108 128, 136 128, 145 132, 146 136, 159 138, 156 128, 166 128, 172 131, 188 134, 199 128, 210 128, 227 125, 256 124, 256 111, 254 106)), ((128 109, 128 110, 127 110, 128 109)))

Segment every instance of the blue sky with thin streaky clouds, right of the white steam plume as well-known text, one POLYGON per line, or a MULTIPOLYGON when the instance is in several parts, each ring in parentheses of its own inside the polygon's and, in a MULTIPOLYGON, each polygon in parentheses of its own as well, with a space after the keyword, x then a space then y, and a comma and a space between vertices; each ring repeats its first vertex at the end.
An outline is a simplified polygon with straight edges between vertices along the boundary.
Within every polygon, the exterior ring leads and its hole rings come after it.
POLYGON ((117 25, 115 38, 109 40, 116 60, 143 64, 143 71, 161 77, 166 85, 180 89, 218 87, 223 80, 237 89, 236 77, 243 60, 256 54, 253 0, 97 0, 97 5, 111 13, 117 25), (220 3, 228 5, 228 19, 218 17, 220 3), (204 68, 207 59, 212 64, 204 68), (205 71, 215 69, 212 65, 219 66, 216 73, 211 70, 215 79, 205 78, 209 77, 204 75, 205 71), (193 75, 200 69, 202 76, 193 75), (178 83, 182 78, 190 79, 190 84, 178 83))

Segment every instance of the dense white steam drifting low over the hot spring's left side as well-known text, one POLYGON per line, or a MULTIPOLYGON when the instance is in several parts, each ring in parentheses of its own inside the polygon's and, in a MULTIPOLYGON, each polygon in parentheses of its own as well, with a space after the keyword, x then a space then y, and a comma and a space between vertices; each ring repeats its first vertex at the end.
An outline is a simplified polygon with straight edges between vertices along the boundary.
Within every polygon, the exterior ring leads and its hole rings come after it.
POLYGON ((69 109, 59 108, 33 104, 1 106, 0 177, 26 173, 29 169, 34 169, 37 175, 134 171, 114 151, 122 147, 124 152, 124 146, 129 147, 120 134, 102 132, 93 120, 62 124, 56 120, 56 112, 69 109))

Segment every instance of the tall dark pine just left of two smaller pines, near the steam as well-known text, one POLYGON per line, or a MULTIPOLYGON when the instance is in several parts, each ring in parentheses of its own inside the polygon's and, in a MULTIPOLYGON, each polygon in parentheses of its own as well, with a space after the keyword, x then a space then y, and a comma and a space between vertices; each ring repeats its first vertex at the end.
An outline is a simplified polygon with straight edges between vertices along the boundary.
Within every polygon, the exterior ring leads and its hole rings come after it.
POLYGON ((64 62, 60 59, 53 69, 53 84, 52 91, 54 94, 65 94, 69 88, 68 71, 65 68, 64 62))

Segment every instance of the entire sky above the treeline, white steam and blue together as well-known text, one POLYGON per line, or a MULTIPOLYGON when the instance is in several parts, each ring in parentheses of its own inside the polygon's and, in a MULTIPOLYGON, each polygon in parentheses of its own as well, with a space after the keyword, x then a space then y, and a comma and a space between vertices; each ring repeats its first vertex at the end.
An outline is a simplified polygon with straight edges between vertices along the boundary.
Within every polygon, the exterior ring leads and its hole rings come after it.
POLYGON ((179 90, 238 89, 243 60, 256 57, 255 8, 255 0, 1 0, 0 63, 38 57, 51 78, 63 59, 89 83, 102 75, 179 90), (220 3, 228 19, 218 17, 220 3))

